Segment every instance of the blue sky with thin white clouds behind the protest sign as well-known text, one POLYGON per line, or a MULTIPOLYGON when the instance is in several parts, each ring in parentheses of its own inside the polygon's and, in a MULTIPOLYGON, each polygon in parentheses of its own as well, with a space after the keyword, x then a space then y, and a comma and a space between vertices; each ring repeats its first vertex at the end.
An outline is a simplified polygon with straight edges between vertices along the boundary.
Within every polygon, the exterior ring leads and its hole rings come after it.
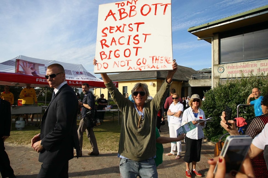
MULTIPOLYGON (((83 64, 94 74, 98 8, 111 2, 118 0, 1 0, 0 62, 25 55, 83 64)), ((267 0, 172 0, 173 58, 195 70, 211 67, 211 44, 198 41, 187 29, 267 4, 267 0)))

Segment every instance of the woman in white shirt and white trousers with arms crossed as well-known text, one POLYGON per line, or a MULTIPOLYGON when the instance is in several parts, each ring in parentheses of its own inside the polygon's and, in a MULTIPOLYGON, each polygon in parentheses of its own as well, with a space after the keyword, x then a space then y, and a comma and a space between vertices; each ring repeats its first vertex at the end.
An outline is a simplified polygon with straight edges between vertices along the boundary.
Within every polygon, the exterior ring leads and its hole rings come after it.
MULTIPOLYGON (((183 104, 179 102, 179 95, 177 93, 173 93, 172 95, 173 102, 169 106, 169 110, 167 115, 170 115, 169 119, 169 137, 177 137, 177 129, 181 127, 182 124, 182 113, 183 113, 183 104)), ((171 142, 171 150, 170 153, 165 154, 166 156, 174 155, 176 151, 177 144, 177 156, 175 159, 181 158, 182 151, 182 142, 177 141, 176 143, 171 142)))

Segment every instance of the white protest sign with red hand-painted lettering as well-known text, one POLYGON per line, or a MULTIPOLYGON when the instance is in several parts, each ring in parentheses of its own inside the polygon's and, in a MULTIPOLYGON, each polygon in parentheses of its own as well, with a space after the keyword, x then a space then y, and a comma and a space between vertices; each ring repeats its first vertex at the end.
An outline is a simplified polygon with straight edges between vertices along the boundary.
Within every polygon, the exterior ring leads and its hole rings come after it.
POLYGON ((172 70, 171 0, 99 5, 94 73, 172 70))

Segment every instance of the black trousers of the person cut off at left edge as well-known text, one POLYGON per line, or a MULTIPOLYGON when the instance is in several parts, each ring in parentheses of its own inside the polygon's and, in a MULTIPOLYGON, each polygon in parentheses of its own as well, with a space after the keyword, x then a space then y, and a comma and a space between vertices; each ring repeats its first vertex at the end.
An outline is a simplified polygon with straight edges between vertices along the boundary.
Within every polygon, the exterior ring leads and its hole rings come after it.
POLYGON ((10 166, 10 161, 5 151, 4 141, 0 138, 0 172, 3 178, 14 175, 14 171, 10 166))

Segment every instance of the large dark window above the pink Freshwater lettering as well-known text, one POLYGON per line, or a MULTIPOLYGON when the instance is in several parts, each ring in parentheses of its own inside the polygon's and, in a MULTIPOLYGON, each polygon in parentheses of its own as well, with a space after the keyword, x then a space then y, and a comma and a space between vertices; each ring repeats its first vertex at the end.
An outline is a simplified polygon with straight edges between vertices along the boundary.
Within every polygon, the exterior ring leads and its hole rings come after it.
POLYGON ((220 34, 220 63, 267 59, 268 22, 220 34))

